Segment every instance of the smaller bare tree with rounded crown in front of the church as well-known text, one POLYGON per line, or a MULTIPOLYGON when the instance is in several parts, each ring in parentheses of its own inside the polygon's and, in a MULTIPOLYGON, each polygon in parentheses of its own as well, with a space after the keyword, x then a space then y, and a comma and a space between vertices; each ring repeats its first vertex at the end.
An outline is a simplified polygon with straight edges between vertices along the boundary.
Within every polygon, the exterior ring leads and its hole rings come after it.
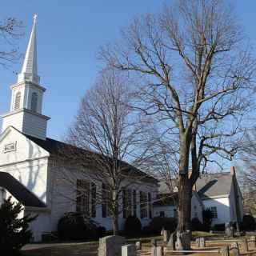
MULTIPOLYGON (((157 188, 154 178, 135 167, 142 165, 148 156, 146 146, 142 146, 147 128, 130 107, 132 96, 123 74, 103 70, 96 84, 82 98, 78 115, 67 134, 67 142, 74 147, 64 145, 60 148, 60 161, 56 164, 62 182, 74 190, 77 180, 94 183, 94 188, 89 188, 89 184, 79 184, 81 194, 88 194, 82 200, 94 200, 91 215, 95 215, 95 207, 103 205, 104 215, 113 219, 114 234, 118 234, 119 214, 123 211, 126 217, 133 214, 136 185, 139 188, 141 182, 147 182, 157 188), (62 161, 63 157, 69 160, 62 161), (75 170, 70 171, 68 166, 75 170), (131 185, 133 190, 130 190, 131 185), (90 190, 94 190, 91 197, 90 190)), ((80 198, 79 194, 77 198, 80 198)), ((146 200, 143 207, 147 208, 147 204, 146 200)))

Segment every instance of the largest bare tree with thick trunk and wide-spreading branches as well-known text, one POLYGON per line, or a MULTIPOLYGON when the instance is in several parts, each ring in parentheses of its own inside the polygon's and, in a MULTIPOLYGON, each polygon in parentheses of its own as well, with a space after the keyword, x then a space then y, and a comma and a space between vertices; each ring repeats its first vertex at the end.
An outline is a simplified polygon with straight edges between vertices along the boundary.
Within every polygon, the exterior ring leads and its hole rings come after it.
POLYGON ((138 109, 178 137, 178 249, 189 248, 192 186, 207 162, 234 157, 250 110, 255 61, 242 29, 222 0, 179 0, 136 18, 100 57, 137 79, 138 109))

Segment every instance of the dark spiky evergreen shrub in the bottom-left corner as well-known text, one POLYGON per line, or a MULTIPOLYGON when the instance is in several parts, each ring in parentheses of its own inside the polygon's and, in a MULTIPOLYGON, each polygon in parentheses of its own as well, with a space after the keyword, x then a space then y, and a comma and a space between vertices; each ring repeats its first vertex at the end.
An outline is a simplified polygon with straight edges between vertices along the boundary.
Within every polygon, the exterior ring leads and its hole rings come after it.
POLYGON ((26 215, 18 218, 22 213, 22 204, 11 202, 11 197, 4 200, 0 206, 0 254, 16 254, 30 242, 32 232, 29 230, 29 223, 37 216, 26 215))

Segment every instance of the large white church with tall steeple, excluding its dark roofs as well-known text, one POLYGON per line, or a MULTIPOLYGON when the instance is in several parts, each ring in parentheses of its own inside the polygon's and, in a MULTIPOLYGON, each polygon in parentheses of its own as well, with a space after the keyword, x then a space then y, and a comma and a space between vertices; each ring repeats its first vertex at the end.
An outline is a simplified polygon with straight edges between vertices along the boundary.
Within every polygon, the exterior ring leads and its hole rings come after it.
MULTIPOLYGON (((0 134, 0 204, 10 195, 24 206, 23 214, 38 214, 30 225, 34 241, 40 241, 42 234, 57 230, 58 220, 66 212, 78 209, 77 190, 66 190, 60 184, 54 172, 54 151, 64 145, 46 137, 49 117, 42 114, 43 94, 46 88, 40 85, 37 66, 36 15, 26 50, 22 71, 18 80, 10 86, 10 111, 2 114, 2 134, 0 134), (58 191, 62 190, 62 194, 58 191), (74 200, 65 197, 73 197, 74 200), (64 196, 63 196, 64 195, 64 196)), ((91 186, 91 185, 90 185, 91 186)), ((102 184, 96 185, 101 190, 102 184)), ((145 226, 152 217, 151 205, 140 209, 141 198, 146 202, 154 199, 158 181, 148 178, 132 185, 133 202, 138 203, 133 209, 145 226)), ((91 195, 90 195, 91 196, 91 195)), ((111 230, 111 218, 104 213, 102 206, 93 206, 89 200, 86 207, 94 207, 93 218, 99 225, 111 230)), ((120 214, 120 228, 125 222, 125 215, 120 214)))

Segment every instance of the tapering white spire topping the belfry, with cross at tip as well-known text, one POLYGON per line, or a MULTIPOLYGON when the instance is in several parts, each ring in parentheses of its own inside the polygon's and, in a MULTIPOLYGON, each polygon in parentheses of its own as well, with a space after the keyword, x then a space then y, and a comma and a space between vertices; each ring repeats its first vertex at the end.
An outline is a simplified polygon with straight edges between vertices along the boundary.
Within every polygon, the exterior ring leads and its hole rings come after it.
POLYGON ((22 65, 22 71, 18 74, 18 82, 30 81, 39 83, 40 77, 38 76, 38 59, 37 59, 37 37, 36 37, 36 22, 37 14, 34 14, 34 22, 30 34, 30 41, 26 48, 26 55, 22 65))

